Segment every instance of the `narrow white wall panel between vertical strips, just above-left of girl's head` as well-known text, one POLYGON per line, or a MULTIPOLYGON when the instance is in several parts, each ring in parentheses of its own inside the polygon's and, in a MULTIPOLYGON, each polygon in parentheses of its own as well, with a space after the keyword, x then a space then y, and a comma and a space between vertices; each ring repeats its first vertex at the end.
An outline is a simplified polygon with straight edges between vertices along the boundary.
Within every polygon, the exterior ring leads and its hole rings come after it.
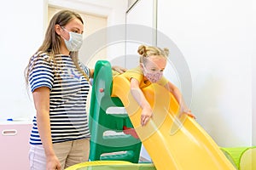
POLYGON ((155 19, 154 0, 140 0, 126 14, 125 68, 139 65, 137 49, 140 45, 154 45, 155 19))

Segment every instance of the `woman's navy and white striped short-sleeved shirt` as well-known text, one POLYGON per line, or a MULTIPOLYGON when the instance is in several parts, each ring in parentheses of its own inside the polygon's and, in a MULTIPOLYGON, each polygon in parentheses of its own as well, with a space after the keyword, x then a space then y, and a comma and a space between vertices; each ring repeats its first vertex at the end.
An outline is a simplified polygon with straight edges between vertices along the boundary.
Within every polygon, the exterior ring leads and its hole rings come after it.
MULTIPOLYGON (((73 60, 67 55, 56 55, 56 69, 48 54, 33 56, 29 68, 29 83, 32 92, 48 87, 49 119, 53 143, 90 138, 88 115, 85 111, 89 82, 84 78, 73 60)), ((79 63, 90 75, 89 68, 79 63)), ((33 118, 30 144, 42 144, 38 133, 37 117, 33 118)))

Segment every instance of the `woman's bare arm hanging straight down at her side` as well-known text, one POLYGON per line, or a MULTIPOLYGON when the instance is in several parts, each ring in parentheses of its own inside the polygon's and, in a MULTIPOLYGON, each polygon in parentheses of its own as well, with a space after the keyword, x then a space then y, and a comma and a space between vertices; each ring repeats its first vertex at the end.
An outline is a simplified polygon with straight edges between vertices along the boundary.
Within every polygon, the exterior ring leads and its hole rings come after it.
POLYGON ((34 105, 37 111, 37 124, 40 139, 44 146, 46 156, 46 169, 60 169, 61 163, 55 156, 51 140, 50 123, 49 123, 49 88, 37 88, 32 93, 34 105))

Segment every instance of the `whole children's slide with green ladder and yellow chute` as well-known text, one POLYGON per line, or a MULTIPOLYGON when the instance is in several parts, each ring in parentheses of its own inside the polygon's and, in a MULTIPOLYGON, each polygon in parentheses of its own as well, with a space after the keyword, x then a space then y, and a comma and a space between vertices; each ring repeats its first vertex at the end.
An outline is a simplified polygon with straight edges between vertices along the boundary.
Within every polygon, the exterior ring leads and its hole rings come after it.
MULTIPOLYGON (((78 169, 144 169, 144 170, 233 170, 231 161, 227 159, 224 152, 219 149, 213 139, 206 131, 195 121, 195 119, 184 114, 178 114, 177 101, 173 98, 166 88, 157 84, 152 84, 143 88, 143 93, 153 108, 153 117, 145 127, 142 127, 141 108, 137 101, 130 94, 130 82, 125 77, 119 75, 113 77, 111 65, 108 61, 98 61, 95 69, 95 77, 92 89, 92 99, 90 105, 90 130, 92 134, 92 143, 90 161, 80 163, 68 170, 78 169), (107 152, 109 144, 129 144, 130 140, 121 139, 112 142, 103 142, 102 133, 99 133, 100 127, 106 128, 106 123, 111 122, 102 115, 105 109, 114 99, 120 99, 122 105, 130 117, 132 126, 137 132, 139 139, 142 141, 145 149, 148 151, 153 163, 136 163, 136 160, 130 161, 102 161, 100 156, 95 153, 103 150, 107 152), (98 105, 95 105, 97 104, 98 105), (102 117, 100 117, 102 116, 102 117), (95 122, 95 123, 94 123, 95 122), (96 134, 100 140, 93 138, 96 134), (101 149, 96 149, 94 143, 102 144, 101 149), (103 148, 103 149, 102 149, 103 148), (106 149, 107 148, 107 149, 106 149), (101 161, 100 161, 101 160, 101 161), (87 168, 88 167, 88 168, 87 168)), ((107 114, 108 115, 108 114, 107 114)), ((126 115, 127 116, 127 115, 126 115)), ((113 121, 115 119, 113 118, 113 121)), ((126 126, 125 120, 120 119, 117 124, 122 127, 126 126)), ((110 124, 114 124, 111 122, 110 124)), ((129 124, 129 123, 128 123, 129 124)), ((115 127, 116 128, 116 127, 115 127)), ((130 136, 130 135, 128 135, 130 136)), ((113 138, 113 137, 112 137, 113 138)), ((126 139, 126 137, 125 137, 126 139)), ((137 141, 133 139, 134 141, 137 141)), ((132 140, 132 141, 133 141, 132 140)), ((137 141, 137 143, 140 141, 137 141)), ((138 143, 139 144, 139 143, 138 143)), ((121 148, 126 150, 128 147, 121 148)), ((117 151, 114 146, 113 151, 117 151)), ((131 148, 127 149, 131 150, 131 148)), ((108 150, 109 151, 109 150, 108 150)), ((134 151, 133 151, 134 152, 134 151)), ((98 154, 99 155, 99 154, 98 154)))

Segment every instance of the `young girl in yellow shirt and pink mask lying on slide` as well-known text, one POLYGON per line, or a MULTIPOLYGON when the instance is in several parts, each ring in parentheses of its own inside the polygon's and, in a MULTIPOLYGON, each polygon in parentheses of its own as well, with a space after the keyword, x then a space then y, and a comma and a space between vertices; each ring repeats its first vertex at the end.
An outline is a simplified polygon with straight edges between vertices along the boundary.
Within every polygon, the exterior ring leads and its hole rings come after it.
POLYGON ((131 82, 131 94, 142 107, 141 124, 146 125, 150 117, 153 116, 152 108, 145 99, 141 88, 149 86, 151 83, 158 83, 169 90, 181 106, 180 111, 195 117, 189 108, 184 104, 182 94, 172 82, 163 77, 166 68, 169 50, 167 48, 157 48, 141 45, 138 50, 140 54, 140 65, 132 70, 126 71, 123 75, 131 82))

